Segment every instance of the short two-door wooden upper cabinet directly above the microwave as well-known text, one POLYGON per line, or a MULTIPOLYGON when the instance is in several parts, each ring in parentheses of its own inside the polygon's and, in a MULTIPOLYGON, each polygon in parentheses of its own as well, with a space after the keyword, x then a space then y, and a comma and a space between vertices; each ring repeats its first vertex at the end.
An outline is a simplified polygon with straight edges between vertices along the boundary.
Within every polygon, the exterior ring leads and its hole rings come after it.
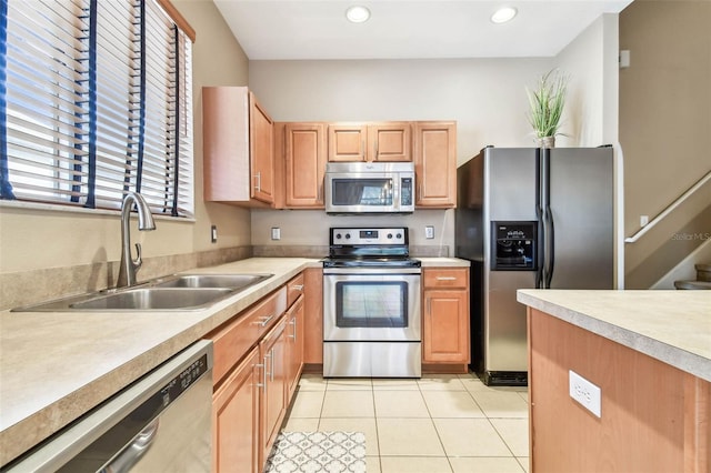
POLYGON ((329 161, 412 161, 409 122, 329 124, 329 161))

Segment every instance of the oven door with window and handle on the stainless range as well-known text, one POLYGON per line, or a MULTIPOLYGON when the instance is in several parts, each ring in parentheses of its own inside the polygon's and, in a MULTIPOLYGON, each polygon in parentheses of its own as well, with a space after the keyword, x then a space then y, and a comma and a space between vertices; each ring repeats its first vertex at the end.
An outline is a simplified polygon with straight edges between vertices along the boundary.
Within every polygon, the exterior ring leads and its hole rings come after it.
POLYGON ((412 269, 323 271, 324 341, 420 341, 420 273, 412 269))

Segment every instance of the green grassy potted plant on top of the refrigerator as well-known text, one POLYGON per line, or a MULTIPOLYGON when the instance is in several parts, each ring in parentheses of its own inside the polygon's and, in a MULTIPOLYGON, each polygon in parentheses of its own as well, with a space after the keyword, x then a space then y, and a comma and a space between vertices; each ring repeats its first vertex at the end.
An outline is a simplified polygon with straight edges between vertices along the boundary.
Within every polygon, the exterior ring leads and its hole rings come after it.
POLYGON ((568 78, 553 69, 540 77, 534 89, 525 88, 529 97, 528 119, 541 148, 553 148, 559 131, 560 118, 565 105, 568 78))

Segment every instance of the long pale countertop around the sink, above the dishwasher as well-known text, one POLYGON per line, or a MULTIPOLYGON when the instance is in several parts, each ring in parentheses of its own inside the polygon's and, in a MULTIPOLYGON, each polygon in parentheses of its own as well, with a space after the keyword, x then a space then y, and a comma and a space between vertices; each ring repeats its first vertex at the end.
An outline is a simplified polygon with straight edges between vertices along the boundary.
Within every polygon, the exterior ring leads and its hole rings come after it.
POLYGON ((270 273, 190 311, 0 312, 0 465, 56 433, 307 268, 316 259, 252 258, 196 273, 270 273))

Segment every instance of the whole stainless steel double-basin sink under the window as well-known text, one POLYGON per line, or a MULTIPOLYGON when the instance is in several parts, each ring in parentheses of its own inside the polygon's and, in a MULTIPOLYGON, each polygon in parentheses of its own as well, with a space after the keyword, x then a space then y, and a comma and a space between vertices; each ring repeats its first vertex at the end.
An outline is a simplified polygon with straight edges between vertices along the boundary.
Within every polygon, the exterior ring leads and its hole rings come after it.
POLYGON ((187 311, 207 308, 273 274, 176 274, 132 288, 112 289, 13 309, 14 312, 187 311))

